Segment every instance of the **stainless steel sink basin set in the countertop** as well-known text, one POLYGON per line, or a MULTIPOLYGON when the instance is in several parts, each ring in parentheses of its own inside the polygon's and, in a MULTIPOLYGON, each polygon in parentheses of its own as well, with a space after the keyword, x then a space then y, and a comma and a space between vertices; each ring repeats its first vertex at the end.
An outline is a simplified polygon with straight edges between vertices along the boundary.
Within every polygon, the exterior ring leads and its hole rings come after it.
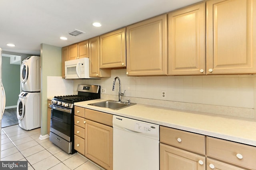
POLYGON ((106 107, 106 108, 110 108, 113 110, 118 110, 118 109, 122 109, 125 107, 129 107, 129 106, 133 106, 136 103, 128 103, 128 102, 118 102, 118 101, 114 101, 114 100, 108 100, 108 101, 104 101, 104 102, 97 102, 97 103, 92 103, 92 104, 88 104, 88 105, 92 105, 92 106, 98 106, 98 107, 106 107))

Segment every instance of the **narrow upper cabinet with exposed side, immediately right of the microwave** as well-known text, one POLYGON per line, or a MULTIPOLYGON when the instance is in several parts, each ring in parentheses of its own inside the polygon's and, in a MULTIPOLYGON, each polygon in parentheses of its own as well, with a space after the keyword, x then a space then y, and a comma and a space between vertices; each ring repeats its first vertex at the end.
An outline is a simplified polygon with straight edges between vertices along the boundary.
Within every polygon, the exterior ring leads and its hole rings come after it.
POLYGON ((100 69, 99 42, 99 37, 89 39, 90 77, 110 77, 110 69, 100 69))

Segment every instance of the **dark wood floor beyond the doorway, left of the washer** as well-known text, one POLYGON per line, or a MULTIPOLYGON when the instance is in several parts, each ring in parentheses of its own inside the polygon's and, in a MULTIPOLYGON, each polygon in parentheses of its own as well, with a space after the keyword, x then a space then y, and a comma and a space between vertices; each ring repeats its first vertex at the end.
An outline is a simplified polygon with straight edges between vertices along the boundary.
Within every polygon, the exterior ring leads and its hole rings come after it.
POLYGON ((18 124, 17 108, 5 109, 2 118, 2 128, 18 124))

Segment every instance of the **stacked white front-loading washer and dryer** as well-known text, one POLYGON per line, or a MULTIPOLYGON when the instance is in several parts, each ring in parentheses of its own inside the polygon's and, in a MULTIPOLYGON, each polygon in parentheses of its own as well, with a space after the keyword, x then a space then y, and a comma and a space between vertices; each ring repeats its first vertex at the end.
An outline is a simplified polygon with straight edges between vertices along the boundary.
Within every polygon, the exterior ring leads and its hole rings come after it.
POLYGON ((40 57, 30 56, 20 66, 22 92, 17 102, 19 126, 25 130, 41 127, 40 57))

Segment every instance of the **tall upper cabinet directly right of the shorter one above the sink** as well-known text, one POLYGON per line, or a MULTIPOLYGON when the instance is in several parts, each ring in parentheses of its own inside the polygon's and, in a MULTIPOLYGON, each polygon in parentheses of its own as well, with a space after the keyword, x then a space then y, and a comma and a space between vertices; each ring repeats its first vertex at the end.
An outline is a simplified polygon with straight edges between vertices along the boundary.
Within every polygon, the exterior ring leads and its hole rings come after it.
POLYGON ((126 74, 167 75, 167 14, 126 27, 126 74))

